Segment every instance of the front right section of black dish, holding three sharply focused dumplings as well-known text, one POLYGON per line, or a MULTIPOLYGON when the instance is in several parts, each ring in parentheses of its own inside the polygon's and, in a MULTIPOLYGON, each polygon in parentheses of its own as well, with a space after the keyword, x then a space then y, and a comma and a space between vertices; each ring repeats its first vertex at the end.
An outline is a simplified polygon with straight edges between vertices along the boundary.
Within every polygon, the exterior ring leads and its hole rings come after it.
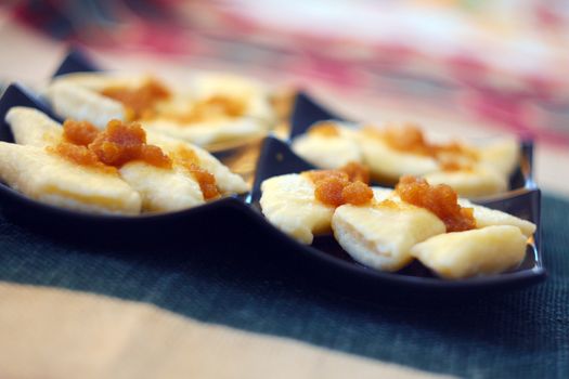
MULTIPOLYGON (((260 185, 263 180, 286 173, 313 169, 313 166, 296 156, 288 144, 274 138, 267 138, 261 149, 255 184, 248 201, 260 217, 260 185)), ((521 287, 538 283, 545 277, 541 252, 540 190, 523 188, 507 198, 479 201, 481 205, 499 209, 538 225, 534 239, 528 244, 526 259, 519 267, 487 277, 460 280, 444 280, 434 276, 428 269, 415 261, 397 273, 379 272, 368 269, 350 258, 332 235, 314 238, 311 246, 297 243, 276 227, 268 224, 263 228, 275 241, 286 243, 290 253, 302 254, 318 261, 323 270, 334 269, 336 273, 349 275, 353 280, 373 283, 380 288, 395 286, 416 290, 469 291, 495 288, 521 287)))

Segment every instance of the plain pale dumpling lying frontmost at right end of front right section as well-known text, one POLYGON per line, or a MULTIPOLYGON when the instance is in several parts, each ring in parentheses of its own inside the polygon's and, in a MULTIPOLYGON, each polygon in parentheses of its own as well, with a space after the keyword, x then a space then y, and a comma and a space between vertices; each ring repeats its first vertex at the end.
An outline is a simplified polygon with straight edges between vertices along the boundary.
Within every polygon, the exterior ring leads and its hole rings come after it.
POLYGON ((437 275, 460 279, 513 269, 526 257, 527 238, 516 226, 494 225, 431 237, 411 253, 437 275))

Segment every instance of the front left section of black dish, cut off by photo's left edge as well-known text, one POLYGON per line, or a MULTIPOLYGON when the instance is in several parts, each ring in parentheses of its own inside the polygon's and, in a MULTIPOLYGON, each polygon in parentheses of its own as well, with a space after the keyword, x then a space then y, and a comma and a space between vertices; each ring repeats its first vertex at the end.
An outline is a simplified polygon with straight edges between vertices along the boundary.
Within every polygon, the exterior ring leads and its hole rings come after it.
MULTIPOLYGON (((21 84, 11 84, 0 99, 0 141, 14 142, 10 126, 5 122, 5 114, 13 106, 37 108, 50 117, 61 121, 52 115, 50 109, 30 91, 21 84)), ((50 206, 28 198, 0 182, 0 207, 8 215, 44 227, 80 231, 114 231, 117 234, 141 234, 145 231, 160 233, 172 228, 191 228, 192 225, 203 225, 214 222, 228 209, 237 212, 249 211, 243 197, 227 197, 219 200, 176 212, 146 213, 140 215, 105 215, 78 212, 50 206)))

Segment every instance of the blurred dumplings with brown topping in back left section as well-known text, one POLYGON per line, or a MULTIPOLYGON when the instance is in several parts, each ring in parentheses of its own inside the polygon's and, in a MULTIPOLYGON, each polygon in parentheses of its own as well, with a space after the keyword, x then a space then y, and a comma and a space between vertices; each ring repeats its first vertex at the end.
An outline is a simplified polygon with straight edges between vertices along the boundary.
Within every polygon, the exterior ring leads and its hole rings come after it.
POLYGON ((109 119, 140 121, 199 146, 261 136, 275 122, 270 92, 232 75, 201 74, 182 84, 147 75, 68 74, 53 79, 46 97, 63 118, 100 129, 109 119))

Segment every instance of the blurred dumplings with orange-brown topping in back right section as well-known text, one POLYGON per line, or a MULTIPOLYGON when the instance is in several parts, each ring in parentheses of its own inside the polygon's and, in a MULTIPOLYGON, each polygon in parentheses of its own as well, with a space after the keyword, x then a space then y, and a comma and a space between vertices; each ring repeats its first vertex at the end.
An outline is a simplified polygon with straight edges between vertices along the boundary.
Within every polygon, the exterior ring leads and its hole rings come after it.
POLYGON ((316 167, 334 169, 358 161, 370 167, 372 178, 380 183, 395 184, 408 174, 423 177, 431 184, 449 184, 469 198, 507 191, 519 161, 516 140, 484 146, 431 142, 414 125, 378 129, 322 121, 296 138, 293 149, 316 167))

